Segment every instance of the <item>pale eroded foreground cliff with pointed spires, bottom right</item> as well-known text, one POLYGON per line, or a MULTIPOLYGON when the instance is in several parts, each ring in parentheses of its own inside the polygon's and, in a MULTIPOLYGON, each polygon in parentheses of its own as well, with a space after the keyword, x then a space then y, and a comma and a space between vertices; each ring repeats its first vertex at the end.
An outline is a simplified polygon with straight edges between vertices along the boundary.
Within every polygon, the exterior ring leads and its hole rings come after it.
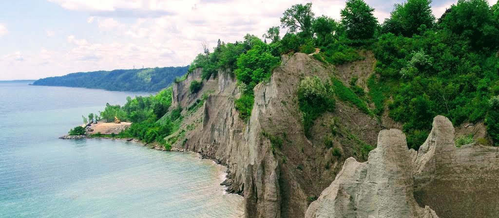
POLYGON ((498 183, 498 149, 457 148, 452 122, 436 116, 418 152, 407 149, 400 130, 381 131, 369 160, 347 159, 306 217, 495 218, 498 183))

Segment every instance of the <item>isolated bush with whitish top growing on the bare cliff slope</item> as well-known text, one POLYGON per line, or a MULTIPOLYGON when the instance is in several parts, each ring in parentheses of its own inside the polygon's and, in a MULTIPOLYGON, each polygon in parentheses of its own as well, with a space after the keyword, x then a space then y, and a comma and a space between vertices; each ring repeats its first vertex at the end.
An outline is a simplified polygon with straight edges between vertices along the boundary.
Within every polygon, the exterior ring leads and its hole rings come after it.
POLYGON ((318 77, 305 77, 301 80, 298 89, 298 105, 303 113, 303 130, 305 136, 310 138, 310 129, 314 120, 325 111, 334 111, 335 101, 329 90, 329 85, 324 85, 318 77))

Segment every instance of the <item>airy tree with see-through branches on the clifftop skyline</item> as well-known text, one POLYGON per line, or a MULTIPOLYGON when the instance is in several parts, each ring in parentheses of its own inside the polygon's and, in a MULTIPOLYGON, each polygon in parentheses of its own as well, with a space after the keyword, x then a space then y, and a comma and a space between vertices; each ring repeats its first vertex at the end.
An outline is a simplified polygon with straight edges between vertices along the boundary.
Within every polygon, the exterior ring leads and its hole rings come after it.
POLYGON ((312 3, 295 4, 284 11, 280 21, 281 26, 288 28, 289 32, 294 33, 299 29, 305 37, 311 37, 313 17, 312 3))

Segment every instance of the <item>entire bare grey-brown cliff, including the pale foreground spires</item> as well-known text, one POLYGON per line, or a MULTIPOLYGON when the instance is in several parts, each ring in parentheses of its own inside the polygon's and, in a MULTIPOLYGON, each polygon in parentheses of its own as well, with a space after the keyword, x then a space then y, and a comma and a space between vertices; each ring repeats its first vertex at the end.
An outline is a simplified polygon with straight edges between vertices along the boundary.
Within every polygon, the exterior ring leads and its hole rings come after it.
POLYGON ((232 72, 219 71, 192 94, 190 83, 201 81, 197 69, 173 87, 172 105, 184 109, 184 119, 172 145, 227 165, 231 179, 225 183, 229 192, 245 196, 248 218, 300 218, 305 212, 307 217, 499 217, 499 189, 491 189, 499 182, 497 150, 455 148, 454 129, 445 117, 435 118, 419 153, 407 149, 399 130, 376 138, 381 130, 398 127, 387 116, 378 121, 340 101, 317 118, 312 137, 305 137, 296 95, 300 80, 317 76, 327 82, 334 76, 348 83, 344 74, 351 73, 365 80, 375 64, 366 55, 336 67, 301 53, 284 55, 270 79, 254 88, 246 123, 235 109, 240 92, 232 72), (326 140, 333 146, 325 146, 326 140), (363 146, 376 142, 379 147, 368 157, 363 146), (340 154, 333 155, 333 149, 340 154), (353 158, 345 162, 347 157, 353 158))

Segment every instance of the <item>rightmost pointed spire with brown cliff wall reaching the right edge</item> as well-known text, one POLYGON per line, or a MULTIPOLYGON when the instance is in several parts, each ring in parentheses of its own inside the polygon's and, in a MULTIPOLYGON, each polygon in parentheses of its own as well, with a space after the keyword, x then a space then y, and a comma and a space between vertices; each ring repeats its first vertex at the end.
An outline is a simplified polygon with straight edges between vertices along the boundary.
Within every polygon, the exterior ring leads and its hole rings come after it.
POLYGON ((414 166, 414 197, 440 218, 499 217, 498 148, 457 148, 452 122, 437 116, 414 166))

